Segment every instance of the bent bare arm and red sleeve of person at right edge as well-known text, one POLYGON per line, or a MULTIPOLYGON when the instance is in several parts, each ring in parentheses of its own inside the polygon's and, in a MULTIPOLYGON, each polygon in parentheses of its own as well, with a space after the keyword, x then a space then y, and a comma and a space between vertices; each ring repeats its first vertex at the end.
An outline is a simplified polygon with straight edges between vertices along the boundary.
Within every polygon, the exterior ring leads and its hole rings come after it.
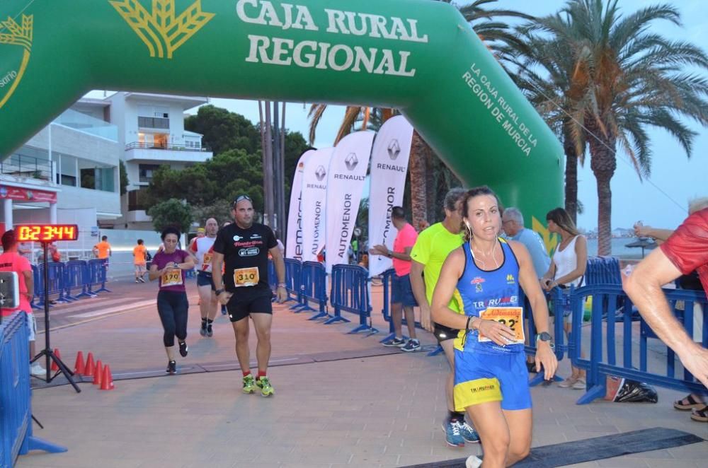
POLYGON ((708 349, 688 336, 661 291, 663 284, 693 270, 708 294, 708 208, 686 218, 660 248, 642 260, 629 276, 625 290, 661 341, 708 387, 708 349))

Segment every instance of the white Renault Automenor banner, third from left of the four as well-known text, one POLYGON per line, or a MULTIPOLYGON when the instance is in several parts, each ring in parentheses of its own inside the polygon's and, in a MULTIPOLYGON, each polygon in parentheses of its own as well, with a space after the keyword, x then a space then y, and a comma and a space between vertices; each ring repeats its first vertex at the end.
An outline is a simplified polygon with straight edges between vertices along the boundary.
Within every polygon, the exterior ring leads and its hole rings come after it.
POLYGON ((333 265, 349 263, 349 245, 374 135, 373 131, 358 131, 345 136, 334 148, 327 175, 327 273, 333 265))

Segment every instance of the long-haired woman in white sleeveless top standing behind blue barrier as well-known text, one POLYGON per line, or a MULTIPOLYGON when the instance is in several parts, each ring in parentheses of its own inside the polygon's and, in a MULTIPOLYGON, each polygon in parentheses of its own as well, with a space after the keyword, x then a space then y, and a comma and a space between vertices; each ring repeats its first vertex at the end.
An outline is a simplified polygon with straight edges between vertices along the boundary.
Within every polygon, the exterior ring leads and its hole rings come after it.
MULTIPOLYGON (((583 286, 583 277, 588 264, 588 240, 584 235, 578 233, 578 229, 573 223, 570 215, 562 208, 552 209, 546 215, 548 230, 561 236, 561 243, 556 247, 552 262, 546 274, 543 275, 541 287, 544 291, 551 291, 553 288, 561 288, 564 292, 569 292, 569 288, 583 286)), ((563 327, 566 334, 571 333, 571 306, 569 294, 564 294, 563 304, 563 327)), ((556 311, 556 320, 559 311, 556 311)), ((581 351, 581 357, 583 353, 581 351)), ((571 387, 575 390, 585 390, 585 371, 576 367, 572 368, 569 378, 559 383, 559 387, 571 387)))

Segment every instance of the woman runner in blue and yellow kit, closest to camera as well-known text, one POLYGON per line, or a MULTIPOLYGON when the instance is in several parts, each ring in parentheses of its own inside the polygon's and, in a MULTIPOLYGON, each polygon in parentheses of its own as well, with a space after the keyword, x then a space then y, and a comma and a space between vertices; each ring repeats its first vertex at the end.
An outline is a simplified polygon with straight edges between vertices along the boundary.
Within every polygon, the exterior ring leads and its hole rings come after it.
MULTIPOLYGON (((461 330, 455 340, 455 405, 479 432, 484 467, 507 467, 531 447, 531 393, 524 353, 523 302, 529 298, 539 332, 536 366, 550 380, 558 361, 548 334, 548 308, 526 247, 503 240, 501 204, 489 187, 462 203, 462 247, 445 260, 430 309, 433 320, 461 330), (447 308, 453 296, 464 315, 447 308)), ((467 467, 479 467, 469 457, 467 467)))

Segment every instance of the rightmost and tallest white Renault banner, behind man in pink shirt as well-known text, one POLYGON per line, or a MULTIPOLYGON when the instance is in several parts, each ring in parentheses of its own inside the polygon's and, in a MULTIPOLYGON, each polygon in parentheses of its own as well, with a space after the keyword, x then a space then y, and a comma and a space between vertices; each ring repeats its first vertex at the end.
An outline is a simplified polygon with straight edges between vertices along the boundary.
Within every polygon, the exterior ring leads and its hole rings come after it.
MULTIPOLYGON (((391 209, 403 204, 411 139, 413 127, 402 115, 388 119, 376 135, 371 152, 369 248, 375 245, 394 248, 397 231, 391 222, 391 209)), ((392 266, 388 257, 371 255, 369 276, 382 274, 392 266)))

